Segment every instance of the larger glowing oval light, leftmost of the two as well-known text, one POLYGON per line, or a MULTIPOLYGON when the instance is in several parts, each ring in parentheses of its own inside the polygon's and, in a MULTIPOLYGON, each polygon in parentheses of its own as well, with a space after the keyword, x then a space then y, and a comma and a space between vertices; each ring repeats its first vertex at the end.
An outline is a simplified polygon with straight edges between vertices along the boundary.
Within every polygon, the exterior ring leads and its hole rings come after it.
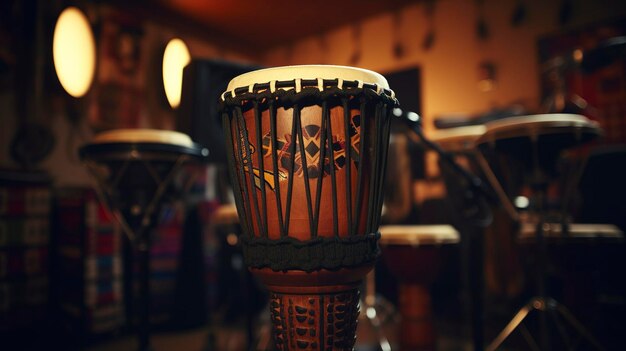
POLYGON ((87 93, 96 68, 96 44, 87 17, 76 7, 65 9, 54 27, 54 69, 73 97, 87 93))

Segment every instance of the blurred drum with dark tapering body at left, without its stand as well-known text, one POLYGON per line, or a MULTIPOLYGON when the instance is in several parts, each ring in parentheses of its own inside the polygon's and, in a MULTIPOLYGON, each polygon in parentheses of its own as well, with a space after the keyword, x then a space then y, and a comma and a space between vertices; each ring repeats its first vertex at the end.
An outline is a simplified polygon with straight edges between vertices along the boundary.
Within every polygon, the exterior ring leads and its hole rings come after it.
POLYGON ((117 129, 96 135, 80 156, 132 238, 142 221, 158 213, 181 167, 206 158, 208 151, 179 132, 117 129))

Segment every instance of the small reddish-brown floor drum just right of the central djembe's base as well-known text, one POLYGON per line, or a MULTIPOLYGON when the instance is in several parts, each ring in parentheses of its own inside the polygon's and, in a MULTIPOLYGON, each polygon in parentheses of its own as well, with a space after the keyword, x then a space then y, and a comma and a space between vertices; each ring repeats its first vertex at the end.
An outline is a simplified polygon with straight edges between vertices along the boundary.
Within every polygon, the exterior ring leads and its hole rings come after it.
POLYGON ((439 274, 442 246, 459 242, 449 225, 385 225, 380 227, 383 260, 399 281, 402 350, 434 350, 435 330, 430 287, 439 274))

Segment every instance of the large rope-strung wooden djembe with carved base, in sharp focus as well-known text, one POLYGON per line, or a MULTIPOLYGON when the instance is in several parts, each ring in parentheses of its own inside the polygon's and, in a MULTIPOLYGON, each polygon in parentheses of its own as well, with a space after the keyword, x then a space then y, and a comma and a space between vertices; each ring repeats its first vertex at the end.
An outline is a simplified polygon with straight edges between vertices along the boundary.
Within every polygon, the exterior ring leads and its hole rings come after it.
POLYGON ((384 77, 340 66, 250 72, 222 95, 244 259, 279 350, 354 347, 396 104, 384 77))

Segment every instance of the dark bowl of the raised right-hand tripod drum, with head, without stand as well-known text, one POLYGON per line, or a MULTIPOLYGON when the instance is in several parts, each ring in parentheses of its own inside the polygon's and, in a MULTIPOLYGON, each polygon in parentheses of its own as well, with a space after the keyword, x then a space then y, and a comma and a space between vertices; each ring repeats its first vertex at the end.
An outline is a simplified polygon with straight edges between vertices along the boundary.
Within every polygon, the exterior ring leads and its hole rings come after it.
POLYGON ((476 140, 478 161, 516 219, 510 198, 517 196, 524 184, 545 189, 556 178, 557 160, 564 150, 602 135, 597 122, 574 114, 510 117, 489 122, 486 127, 485 134, 476 140))

